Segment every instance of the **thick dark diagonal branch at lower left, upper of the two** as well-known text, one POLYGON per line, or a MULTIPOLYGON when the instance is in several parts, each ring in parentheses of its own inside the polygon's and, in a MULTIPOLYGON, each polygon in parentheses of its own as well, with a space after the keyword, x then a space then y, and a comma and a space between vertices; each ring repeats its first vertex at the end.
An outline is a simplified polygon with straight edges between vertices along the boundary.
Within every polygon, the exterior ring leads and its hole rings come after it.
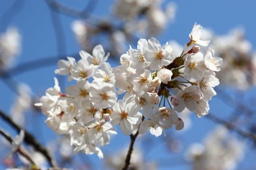
MULTIPOLYGON (((5 113, 3 113, 2 110, 0 110, 0 117, 3 118, 3 120, 5 120, 6 122, 8 122, 13 128, 15 128, 15 130, 17 132, 20 132, 20 130, 22 130, 23 128, 20 127, 19 125, 17 125, 9 116, 7 116, 5 113)), ((35 139, 35 137, 33 135, 31 135, 30 133, 28 133, 26 130, 24 130, 25 132, 25 137, 24 137, 24 141, 27 144, 32 145, 35 150, 37 150, 38 152, 42 153, 47 160, 49 161, 49 164, 52 167, 58 167, 55 159, 51 156, 51 154, 49 153, 49 151, 44 148, 44 146, 42 146, 41 144, 38 143, 38 141, 35 139)))

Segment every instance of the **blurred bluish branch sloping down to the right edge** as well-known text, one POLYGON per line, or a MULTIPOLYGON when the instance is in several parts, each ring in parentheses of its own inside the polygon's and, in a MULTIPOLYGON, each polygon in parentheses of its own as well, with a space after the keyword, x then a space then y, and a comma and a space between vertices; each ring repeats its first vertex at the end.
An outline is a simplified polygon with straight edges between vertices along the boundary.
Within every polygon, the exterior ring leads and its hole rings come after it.
POLYGON ((224 120, 218 118, 217 116, 213 115, 212 113, 209 113, 205 117, 214 121, 215 123, 223 125, 227 129, 232 130, 232 131, 238 133, 239 135, 242 135, 245 138, 250 138, 251 140, 256 141, 256 134, 238 129, 236 127, 236 125, 233 125, 232 123, 230 123, 228 121, 224 121, 224 120))

